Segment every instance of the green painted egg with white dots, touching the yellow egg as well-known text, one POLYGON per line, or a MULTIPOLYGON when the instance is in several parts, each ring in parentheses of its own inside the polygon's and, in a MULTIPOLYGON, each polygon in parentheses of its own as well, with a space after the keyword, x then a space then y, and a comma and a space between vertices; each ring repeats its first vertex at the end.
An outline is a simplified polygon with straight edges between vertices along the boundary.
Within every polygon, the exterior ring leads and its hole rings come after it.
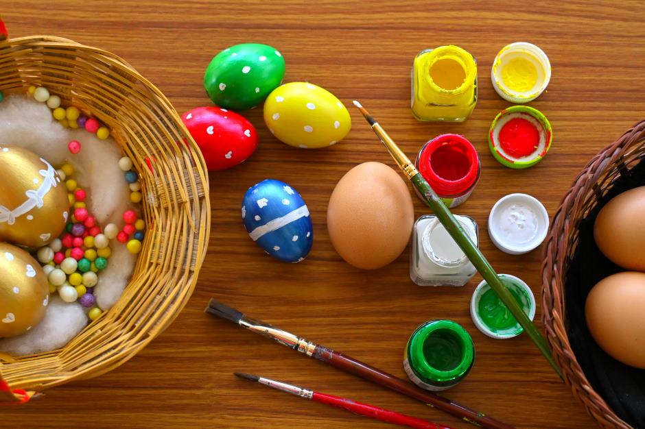
POLYGON ((246 110, 258 106, 282 82, 285 61, 280 51, 261 43, 224 49, 211 60, 204 88, 220 107, 246 110))

